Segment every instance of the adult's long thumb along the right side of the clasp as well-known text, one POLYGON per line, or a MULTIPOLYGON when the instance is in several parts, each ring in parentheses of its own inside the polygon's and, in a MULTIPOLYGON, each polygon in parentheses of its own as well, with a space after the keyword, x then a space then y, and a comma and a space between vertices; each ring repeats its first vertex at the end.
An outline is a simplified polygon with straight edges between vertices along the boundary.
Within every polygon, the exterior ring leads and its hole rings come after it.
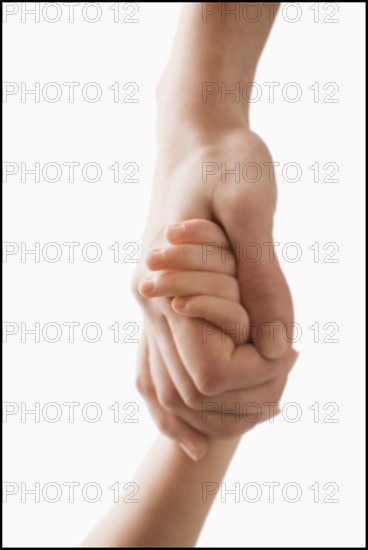
POLYGON ((249 190, 232 196, 224 193, 221 199, 218 217, 236 252, 241 302, 254 323, 255 346, 266 358, 282 357, 291 348, 286 332, 293 321, 293 307, 274 251, 273 212, 259 194, 252 200, 249 190))

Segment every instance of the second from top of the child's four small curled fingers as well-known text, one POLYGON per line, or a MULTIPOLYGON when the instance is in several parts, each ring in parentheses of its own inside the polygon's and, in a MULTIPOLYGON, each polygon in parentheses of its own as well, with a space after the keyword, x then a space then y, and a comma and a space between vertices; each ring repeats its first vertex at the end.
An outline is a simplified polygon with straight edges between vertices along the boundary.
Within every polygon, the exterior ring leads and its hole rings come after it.
POLYGON ((180 269, 235 275, 235 256, 214 244, 181 244, 150 250, 147 267, 152 271, 180 269))

